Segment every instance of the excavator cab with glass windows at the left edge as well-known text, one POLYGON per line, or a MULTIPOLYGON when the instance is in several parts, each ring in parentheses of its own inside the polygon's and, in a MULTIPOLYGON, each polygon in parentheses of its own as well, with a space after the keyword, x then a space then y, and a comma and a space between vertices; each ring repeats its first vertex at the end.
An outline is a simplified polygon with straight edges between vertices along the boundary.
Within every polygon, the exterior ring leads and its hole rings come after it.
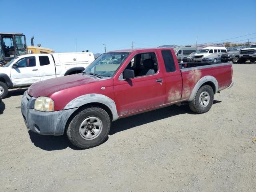
POLYGON ((26 37, 22 33, 0 33, 0 60, 9 62, 16 56, 28 54, 26 37))

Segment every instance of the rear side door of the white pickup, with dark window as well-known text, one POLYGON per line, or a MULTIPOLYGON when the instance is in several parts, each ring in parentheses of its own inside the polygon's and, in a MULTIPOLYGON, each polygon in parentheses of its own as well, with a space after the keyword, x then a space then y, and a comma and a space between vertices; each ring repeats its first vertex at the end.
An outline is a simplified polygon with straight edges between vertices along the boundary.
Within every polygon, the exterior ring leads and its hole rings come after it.
POLYGON ((54 60, 50 54, 39 56, 39 76, 41 81, 56 77, 54 60))

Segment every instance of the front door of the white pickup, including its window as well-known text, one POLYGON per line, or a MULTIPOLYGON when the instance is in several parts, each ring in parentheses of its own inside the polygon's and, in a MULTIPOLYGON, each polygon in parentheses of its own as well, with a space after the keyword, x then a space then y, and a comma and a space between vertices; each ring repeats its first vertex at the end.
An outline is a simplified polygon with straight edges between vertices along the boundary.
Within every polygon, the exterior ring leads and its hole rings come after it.
POLYGON ((23 57, 16 62, 18 68, 11 68, 11 78, 14 86, 30 85, 40 81, 36 57, 23 57))

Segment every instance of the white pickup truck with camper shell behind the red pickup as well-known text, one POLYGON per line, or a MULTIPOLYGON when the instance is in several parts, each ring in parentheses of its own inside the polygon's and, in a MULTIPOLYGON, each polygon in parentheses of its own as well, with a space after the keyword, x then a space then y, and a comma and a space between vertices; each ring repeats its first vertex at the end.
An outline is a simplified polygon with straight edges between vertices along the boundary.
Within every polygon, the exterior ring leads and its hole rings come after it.
POLYGON ((8 89, 82 72, 94 61, 92 52, 28 54, 14 58, 0 67, 0 98, 8 89))

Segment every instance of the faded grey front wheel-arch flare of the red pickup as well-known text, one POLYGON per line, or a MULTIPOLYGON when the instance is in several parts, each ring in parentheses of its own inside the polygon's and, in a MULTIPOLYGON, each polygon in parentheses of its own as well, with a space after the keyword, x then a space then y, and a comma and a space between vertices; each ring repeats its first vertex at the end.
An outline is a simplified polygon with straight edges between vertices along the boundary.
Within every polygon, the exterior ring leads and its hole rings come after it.
POLYGON ((86 95, 79 96, 73 99, 72 101, 70 101, 65 106, 64 110, 70 109, 70 108, 78 108, 80 106, 83 106, 85 104, 90 104, 90 103, 101 103, 106 105, 112 112, 112 116, 113 116, 112 121, 115 121, 118 119, 116 103, 111 98, 102 94, 86 94, 86 95))

